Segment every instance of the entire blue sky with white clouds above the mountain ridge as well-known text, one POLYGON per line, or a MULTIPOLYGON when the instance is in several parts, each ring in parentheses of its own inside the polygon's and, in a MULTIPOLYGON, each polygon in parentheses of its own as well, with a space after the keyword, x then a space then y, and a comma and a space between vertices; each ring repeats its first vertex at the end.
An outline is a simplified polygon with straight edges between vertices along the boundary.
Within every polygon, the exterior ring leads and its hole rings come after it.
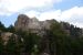
POLYGON ((83 0, 0 0, 0 21, 6 26, 14 24, 21 13, 83 28, 83 0))

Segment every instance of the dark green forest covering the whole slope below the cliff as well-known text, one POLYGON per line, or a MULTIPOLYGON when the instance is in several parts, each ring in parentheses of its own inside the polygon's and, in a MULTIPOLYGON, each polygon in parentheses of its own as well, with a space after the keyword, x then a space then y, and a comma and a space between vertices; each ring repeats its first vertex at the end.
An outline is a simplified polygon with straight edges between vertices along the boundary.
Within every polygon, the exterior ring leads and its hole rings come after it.
POLYGON ((13 25, 6 28, 0 22, 0 55, 42 55, 42 53, 49 55, 83 55, 82 29, 54 20, 51 29, 44 29, 44 31, 45 34, 41 37, 30 31, 15 31, 13 25), (1 37, 2 32, 13 33, 6 45, 1 37), (17 38, 14 34, 18 35, 17 38))

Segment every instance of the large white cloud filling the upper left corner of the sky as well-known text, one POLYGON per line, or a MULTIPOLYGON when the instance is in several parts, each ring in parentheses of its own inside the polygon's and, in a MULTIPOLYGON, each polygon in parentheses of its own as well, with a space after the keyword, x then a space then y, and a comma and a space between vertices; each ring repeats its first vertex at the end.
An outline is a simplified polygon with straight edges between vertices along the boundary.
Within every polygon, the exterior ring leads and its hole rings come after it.
POLYGON ((24 8, 50 7, 61 1, 62 0, 0 0, 0 10, 3 9, 4 13, 8 13, 8 11, 10 13, 21 12, 20 10, 24 8))

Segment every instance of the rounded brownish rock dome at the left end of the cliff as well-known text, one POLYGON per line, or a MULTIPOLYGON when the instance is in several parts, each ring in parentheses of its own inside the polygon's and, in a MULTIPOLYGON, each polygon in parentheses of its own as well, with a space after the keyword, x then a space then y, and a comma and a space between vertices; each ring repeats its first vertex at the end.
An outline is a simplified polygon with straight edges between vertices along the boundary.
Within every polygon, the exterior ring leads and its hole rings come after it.
POLYGON ((23 31, 25 31, 27 28, 28 28, 29 20, 30 19, 27 15, 20 14, 18 16, 17 22, 14 23, 15 30, 23 30, 23 31))

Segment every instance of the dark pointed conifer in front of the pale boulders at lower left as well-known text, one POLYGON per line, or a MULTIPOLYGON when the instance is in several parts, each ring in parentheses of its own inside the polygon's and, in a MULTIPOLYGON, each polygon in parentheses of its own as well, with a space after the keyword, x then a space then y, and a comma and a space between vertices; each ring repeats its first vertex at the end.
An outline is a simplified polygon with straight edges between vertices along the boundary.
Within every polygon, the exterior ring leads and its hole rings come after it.
POLYGON ((18 43, 15 41, 15 36, 14 34, 12 34, 6 45, 6 51, 7 51, 7 54, 9 55, 17 55, 18 54, 18 50, 17 50, 17 46, 18 46, 18 43))

